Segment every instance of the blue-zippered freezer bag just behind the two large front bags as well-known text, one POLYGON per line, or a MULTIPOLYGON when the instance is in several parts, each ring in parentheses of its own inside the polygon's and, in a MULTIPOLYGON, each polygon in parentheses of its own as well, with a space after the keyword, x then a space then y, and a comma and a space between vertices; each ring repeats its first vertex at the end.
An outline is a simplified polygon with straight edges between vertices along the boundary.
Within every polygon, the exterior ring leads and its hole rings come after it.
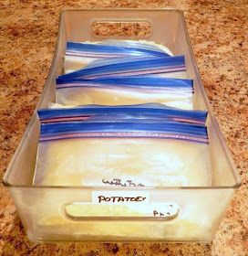
POLYGON ((57 79, 56 102, 63 105, 129 105, 157 102, 192 109, 193 81, 164 78, 57 79))

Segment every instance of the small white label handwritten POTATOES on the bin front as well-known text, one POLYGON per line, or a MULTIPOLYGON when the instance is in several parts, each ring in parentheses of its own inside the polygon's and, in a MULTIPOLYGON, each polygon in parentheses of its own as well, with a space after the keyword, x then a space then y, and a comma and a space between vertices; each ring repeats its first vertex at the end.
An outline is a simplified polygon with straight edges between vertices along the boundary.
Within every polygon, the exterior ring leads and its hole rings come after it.
POLYGON ((146 191, 92 191, 92 203, 98 205, 144 205, 149 203, 146 191))

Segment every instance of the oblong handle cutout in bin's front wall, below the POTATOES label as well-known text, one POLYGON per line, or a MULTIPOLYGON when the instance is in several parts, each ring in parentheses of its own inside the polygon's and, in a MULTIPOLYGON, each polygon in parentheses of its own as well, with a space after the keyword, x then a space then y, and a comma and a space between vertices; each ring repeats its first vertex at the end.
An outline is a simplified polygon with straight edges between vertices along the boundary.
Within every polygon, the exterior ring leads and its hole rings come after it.
POLYGON ((70 220, 171 220, 179 215, 175 203, 99 205, 91 202, 71 202, 62 206, 62 214, 70 220))

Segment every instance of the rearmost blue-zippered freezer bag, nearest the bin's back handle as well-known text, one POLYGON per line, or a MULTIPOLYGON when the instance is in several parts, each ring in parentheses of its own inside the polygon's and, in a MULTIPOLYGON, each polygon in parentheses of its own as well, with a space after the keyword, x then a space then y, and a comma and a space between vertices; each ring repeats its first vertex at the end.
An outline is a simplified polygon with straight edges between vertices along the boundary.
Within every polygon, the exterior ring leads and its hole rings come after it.
POLYGON ((165 47, 158 47, 151 43, 135 41, 105 40, 98 43, 67 42, 65 55, 65 73, 82 69, 97 59, 120 57, 166 57, 171 51, 165 47))

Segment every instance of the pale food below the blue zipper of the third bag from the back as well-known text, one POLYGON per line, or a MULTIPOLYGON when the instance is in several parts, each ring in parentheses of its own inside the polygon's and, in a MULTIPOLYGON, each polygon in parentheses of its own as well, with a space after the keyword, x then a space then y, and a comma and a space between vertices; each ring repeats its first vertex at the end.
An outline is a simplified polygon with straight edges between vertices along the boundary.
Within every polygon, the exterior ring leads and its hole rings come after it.
POLYGON ((152 91, 130 88, 72 87, 58 89, 56 102, 63 105, 130 105, 148 102, 161 103, 170 107, 191 110, 191 92, 152 91))

